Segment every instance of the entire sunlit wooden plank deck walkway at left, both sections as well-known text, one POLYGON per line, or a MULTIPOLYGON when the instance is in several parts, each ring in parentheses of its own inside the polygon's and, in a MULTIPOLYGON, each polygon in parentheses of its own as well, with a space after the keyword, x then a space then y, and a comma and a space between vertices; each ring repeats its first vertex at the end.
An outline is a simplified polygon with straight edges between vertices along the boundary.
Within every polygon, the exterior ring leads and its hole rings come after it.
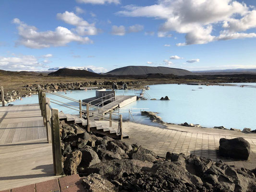
POLYGON ((38 104, 0 107, 0 191, 56 178, 38 104))

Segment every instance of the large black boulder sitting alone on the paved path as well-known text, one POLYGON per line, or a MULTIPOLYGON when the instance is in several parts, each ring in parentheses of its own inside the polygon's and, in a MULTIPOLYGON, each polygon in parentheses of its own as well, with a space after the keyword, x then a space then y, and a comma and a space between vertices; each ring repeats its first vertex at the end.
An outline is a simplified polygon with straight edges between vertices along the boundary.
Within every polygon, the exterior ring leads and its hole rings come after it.
POLYGON ((219 155, 235 159, 247 160, 250 155, 250 144, 244 138, 219 140, 219 155))

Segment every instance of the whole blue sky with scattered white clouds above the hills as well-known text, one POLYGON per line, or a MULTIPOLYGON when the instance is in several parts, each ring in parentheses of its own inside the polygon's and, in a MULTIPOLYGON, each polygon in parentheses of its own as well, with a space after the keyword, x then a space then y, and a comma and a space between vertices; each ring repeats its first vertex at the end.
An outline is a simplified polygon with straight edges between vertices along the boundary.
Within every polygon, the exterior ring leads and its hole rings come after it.
POLYGON ((0 69, 256 68, 256 0, 1 0, 0 69))

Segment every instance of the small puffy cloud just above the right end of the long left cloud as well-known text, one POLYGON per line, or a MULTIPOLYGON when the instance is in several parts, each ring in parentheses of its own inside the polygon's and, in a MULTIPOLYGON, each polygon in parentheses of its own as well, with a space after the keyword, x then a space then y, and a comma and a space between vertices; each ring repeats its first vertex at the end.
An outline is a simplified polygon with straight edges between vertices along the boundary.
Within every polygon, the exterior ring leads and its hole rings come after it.
POLYGON ((61 19, 67 24, 76 26, 72 31, 76 32, 80 36, 95 36, 98 34, 98 29, 94 26, 95 24, 89 24, 83 18, 78 17, 73 12, 57 13, 57 18, 61 19))

